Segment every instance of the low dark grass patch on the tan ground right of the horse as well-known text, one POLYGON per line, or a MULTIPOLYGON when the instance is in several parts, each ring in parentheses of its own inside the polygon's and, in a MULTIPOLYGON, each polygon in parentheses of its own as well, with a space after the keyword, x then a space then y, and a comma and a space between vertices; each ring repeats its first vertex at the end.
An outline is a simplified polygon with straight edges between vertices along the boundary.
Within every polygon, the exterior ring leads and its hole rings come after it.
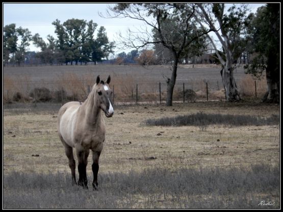
POLYGON ((206 126, 211 124, 224 126, 276 125, 279 124, 279 115, 264 118, 251 115, 197 113, 159 119, 146 119, 142 124, 146 126, 206 126))

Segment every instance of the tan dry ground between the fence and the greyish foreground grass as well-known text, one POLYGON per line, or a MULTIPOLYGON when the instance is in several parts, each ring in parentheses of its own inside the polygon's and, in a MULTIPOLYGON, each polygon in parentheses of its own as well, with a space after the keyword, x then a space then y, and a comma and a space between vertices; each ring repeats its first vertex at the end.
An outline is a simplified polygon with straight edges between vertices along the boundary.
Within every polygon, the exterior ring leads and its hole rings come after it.
MULTIPOLYGON (((115 107, 106 118, 106 142, 99 172, 142 171, 162 167, 233 167, 279 164, 279 123, 272 126, 144 126, 147 118, 194 114, 279 114, 278 104, 197 102, 115 107)), ((57 113, 4 110, 4 174, 11 171, 70 173, 56 128, 57 113)), ((91 155, 88 173, 91 174, 91 155)), ((77 172, 78 174, 78 172, 77 172)))

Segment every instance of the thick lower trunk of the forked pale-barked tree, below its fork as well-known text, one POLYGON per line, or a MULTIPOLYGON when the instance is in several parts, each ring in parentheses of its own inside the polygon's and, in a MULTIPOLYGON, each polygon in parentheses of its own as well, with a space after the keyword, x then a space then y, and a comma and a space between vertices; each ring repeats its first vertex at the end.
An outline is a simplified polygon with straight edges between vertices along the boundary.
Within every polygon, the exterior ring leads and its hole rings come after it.
POLYGON ((226 65, 220 71, 222 76, 222 82, 225 89, 226 101, 239 101, 241 100, 240 94, 236 85, 235 78, 233 76, 233 68, 226 65))

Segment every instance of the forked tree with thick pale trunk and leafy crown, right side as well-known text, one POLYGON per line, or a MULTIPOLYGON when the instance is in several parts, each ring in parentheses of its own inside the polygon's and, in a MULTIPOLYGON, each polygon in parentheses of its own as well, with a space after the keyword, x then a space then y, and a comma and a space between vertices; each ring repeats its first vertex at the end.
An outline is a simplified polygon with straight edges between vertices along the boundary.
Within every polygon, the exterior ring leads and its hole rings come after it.
POLYGON ((239 101, 240 93, 234 78, 234 61, 243 51, 246 26, 248 25, 247 5, 242 4, 236 8, 235 5, 224 12, 225 4, 197 4, 195 18, 203 29, 213 29, 220 42, 224 54, 217 50, 216 42, 212 35, 207 37, 213 44, 216 55, 222 64, 221 77, 225 89, 226 101, 239 101))

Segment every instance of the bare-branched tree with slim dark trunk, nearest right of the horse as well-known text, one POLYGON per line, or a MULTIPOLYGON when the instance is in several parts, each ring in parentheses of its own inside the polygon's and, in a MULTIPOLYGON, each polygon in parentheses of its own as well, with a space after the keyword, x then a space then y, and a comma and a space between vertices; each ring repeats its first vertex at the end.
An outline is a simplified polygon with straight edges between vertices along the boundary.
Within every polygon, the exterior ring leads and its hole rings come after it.
POLYGON ((127 37, 120 35, 123 46, 140 49, 161 44, 171 52, 172 73, 166 80, 167 106, 172 105, 179 58, 188 52, 190 45, 201 43, 201 36, 212 31, 198 28, 195 7, 196 4, 116 4, 107 11, 107 17, 132 18, 144 23, 136 32, 128 29, 127 37))

